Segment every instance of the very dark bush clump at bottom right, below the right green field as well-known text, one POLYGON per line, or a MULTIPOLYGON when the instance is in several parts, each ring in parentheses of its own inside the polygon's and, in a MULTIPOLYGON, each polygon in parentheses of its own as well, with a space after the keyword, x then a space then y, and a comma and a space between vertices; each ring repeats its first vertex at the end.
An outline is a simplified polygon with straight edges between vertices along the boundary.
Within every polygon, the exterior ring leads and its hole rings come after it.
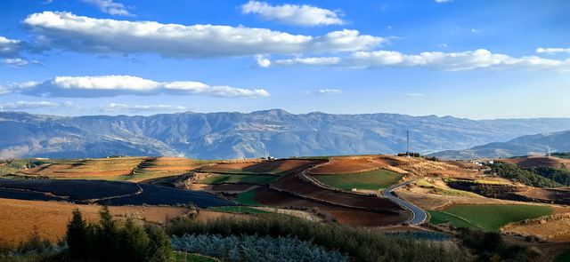
POLYGON ((465 247, 474 250, 478 261, 535 261, 539 254, 519 245, 509 245, 501 234, 469 228, 460 229, 460 240, 465 247))

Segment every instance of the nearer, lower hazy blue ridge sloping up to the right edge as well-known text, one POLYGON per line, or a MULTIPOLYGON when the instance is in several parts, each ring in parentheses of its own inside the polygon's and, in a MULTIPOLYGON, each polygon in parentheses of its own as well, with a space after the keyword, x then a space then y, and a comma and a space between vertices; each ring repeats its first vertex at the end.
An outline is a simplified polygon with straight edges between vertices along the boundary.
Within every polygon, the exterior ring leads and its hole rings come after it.
POLYGON ((446 159, 511 157, 517 155, 570 152, 570 131, 522 136, 507 142, 495 142, 465 150, 447 150, 432 154, 446 159))

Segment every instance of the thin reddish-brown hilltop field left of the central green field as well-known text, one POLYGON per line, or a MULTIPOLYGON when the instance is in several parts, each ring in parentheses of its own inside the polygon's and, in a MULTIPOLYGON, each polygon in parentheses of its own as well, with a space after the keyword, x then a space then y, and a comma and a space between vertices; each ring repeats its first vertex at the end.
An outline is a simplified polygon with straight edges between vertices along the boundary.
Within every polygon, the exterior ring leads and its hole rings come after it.
POLYGON ((219 163, 209 166, 203 171, 221 173, 282 173, 291 171, 310 164, 322 163, 321 160, 297 160, 283 159, 275 161, 264 161, 260 163, 219 163))

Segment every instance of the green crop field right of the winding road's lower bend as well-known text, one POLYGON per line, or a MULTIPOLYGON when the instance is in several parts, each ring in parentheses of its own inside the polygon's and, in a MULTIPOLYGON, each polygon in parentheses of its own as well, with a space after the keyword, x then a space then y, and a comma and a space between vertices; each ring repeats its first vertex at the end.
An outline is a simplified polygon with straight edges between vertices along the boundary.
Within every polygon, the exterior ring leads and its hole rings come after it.
POLYGON ((552 213, 548 206, 535 205, 453 205, 444 210, 428 210, 432 224, 451 222, 453 226, 499 231, 501 226, 552 213))

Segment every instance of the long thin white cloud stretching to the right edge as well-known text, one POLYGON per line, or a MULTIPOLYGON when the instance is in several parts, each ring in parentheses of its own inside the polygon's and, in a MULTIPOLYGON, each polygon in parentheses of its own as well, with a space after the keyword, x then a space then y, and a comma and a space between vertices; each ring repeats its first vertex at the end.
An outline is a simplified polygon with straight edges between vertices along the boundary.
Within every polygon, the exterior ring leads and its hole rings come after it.
MULTIPOLYGON (((282 65, 307 65, 305 60, 286 60, 282 65)), ((322 60, 324 58, 314 58, 322 60)), ((513 58, 505 54, 496 54, 485 49, 466 52, 420 52, 403 54, 395 51, 354 52, 346 58, 330 57, 330 63, 313 63, 312 66, 338 66, 353 68, 369 67, 425 67, 437 70, 471 70, 477 68, 493 69, 570 69, 570 60, 549 60, 537 56, 513 58)), ((271 65, 280 65, 270 61, 271 65)))

